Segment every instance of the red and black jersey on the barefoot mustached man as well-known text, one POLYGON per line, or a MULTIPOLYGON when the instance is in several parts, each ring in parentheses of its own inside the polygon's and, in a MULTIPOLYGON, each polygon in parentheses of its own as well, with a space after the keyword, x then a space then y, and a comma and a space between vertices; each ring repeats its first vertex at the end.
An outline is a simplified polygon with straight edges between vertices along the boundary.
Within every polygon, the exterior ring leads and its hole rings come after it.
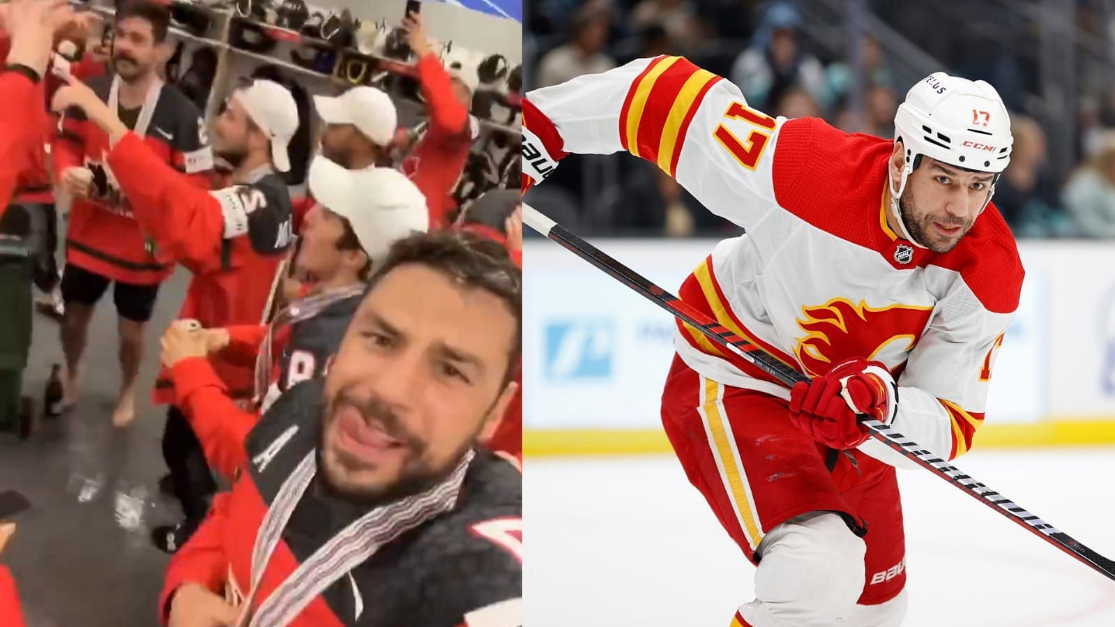
MULTIPOLYGON (((105 102, 110 86, 110 76, 89 83, 105 102)), ((148 147, 147 154, 168 165, 168 171, 173 167, 186 174, 184 181, 194 190, 209 189, 213 155, 206 145, 204 122, 197 107, 176 87, 163 86, 140 141, 148 147)), ((90 199, 74 201, 66 262, 116 281, 159 283, 174 270, 174 257, 163 247, 152 250, 136 218, 137 212, 151 213, 155 208, 143 206, 152 202, 149 195, 128 193, 135 189, 125 191, 119 179, 134 173, 122 173, 108 162, 108 135, 80 110, 67 112, 52 146, 55 173, 60 179, 65 170, 84 165, 94 172, 94 191, 90 199)))

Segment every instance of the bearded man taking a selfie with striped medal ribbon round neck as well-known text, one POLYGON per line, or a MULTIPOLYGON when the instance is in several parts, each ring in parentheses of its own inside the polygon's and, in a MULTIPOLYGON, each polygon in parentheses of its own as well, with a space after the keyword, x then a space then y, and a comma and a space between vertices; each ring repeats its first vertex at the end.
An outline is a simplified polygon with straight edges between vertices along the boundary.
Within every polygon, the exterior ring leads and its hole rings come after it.
POLYGON ((396 242, 326 378, 272 405, 172 559, 163 623, 522 625, 521 475, 478 445, 515 394, 521 317, 500 244, 396 242))

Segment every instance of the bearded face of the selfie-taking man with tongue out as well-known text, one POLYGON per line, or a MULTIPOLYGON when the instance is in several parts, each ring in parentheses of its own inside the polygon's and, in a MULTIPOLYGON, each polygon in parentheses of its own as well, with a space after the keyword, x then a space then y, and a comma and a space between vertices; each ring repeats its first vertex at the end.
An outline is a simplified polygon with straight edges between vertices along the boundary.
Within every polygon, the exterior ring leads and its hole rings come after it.
POLYGON ((380 279, 326 377, 326 490, 376 505, 443 481, 514 394, 503 377, 515 330, 498 297, 425 266, 380 279))

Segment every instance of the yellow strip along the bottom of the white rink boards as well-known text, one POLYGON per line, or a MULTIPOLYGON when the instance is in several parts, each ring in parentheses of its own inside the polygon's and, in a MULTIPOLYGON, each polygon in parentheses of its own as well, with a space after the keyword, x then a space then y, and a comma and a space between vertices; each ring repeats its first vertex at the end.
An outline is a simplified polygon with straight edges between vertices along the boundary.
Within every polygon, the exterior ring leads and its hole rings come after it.
MULTIPOLYGON (((1025 424, 985 424, 972 448, 1115 444, 1115 419, 1053 419, 1025 424)), ((523 455, 655 455, 672 453, 661 430, 525 430, 523 455)))

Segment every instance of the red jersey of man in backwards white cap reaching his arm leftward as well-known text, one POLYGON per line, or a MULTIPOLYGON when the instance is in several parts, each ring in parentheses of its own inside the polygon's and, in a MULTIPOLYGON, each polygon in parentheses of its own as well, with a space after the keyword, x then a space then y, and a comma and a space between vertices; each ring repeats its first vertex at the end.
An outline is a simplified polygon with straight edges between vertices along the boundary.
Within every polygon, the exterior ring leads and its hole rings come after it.
MULTIPOLYGON (((107 163, 144 231, 194 276, 178 316, 206 328, 263 322, 292 239, 282 179, 264 170, 246 184, 200 190, 134 133, 120 139, 107 163)), ((215 359, 213 367, 234 398, 252 397, 251 364, 215 359)), ((155 385, 156 403, 175 402, 165 369, 155 385)))

